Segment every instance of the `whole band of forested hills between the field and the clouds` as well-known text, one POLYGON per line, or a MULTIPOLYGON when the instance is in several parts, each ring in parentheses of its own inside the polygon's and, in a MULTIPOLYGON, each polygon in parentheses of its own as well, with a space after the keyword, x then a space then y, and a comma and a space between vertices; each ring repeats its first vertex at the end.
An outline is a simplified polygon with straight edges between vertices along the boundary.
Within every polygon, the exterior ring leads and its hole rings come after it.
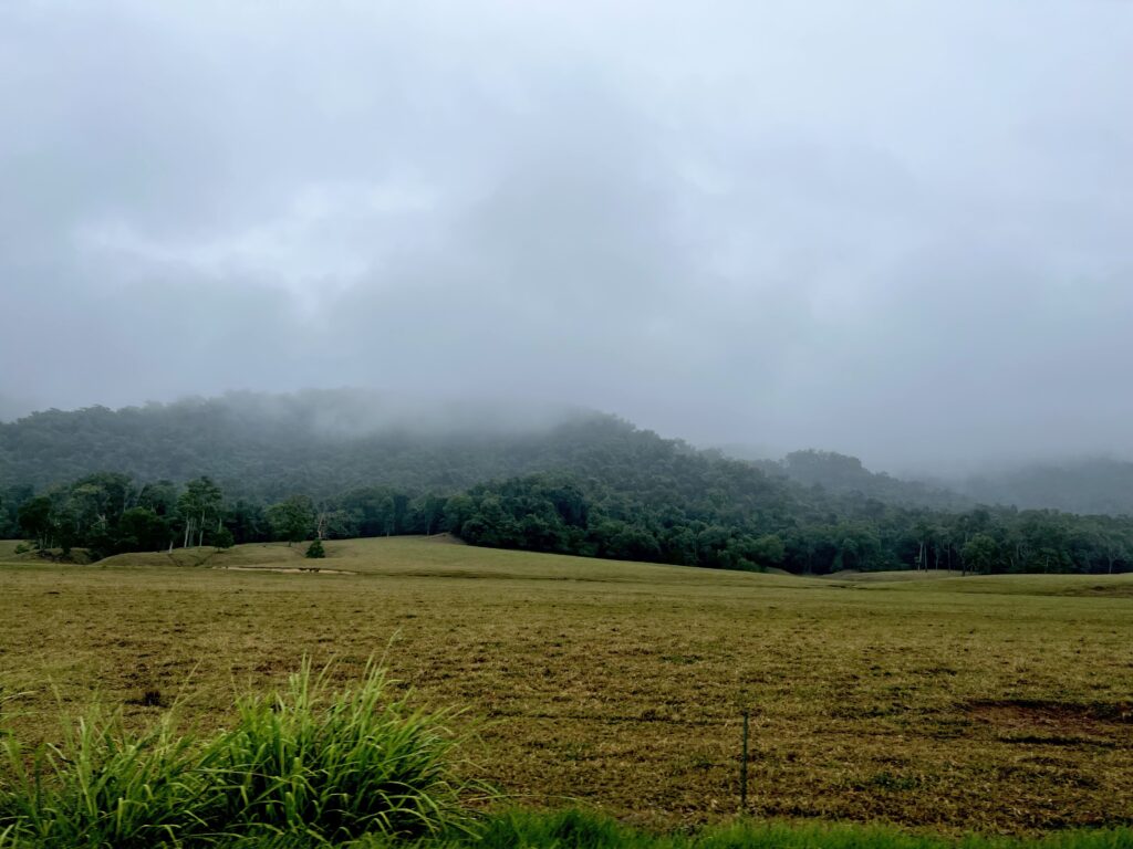
POLYGON ((595 413, 441 427, 381 412, 349 393, 230 395, 0 424, 0 537, 104 557, 451 532, 810 574, 1133 571, 1127 517, 980 506, 837 454, 733 460, 595 413))

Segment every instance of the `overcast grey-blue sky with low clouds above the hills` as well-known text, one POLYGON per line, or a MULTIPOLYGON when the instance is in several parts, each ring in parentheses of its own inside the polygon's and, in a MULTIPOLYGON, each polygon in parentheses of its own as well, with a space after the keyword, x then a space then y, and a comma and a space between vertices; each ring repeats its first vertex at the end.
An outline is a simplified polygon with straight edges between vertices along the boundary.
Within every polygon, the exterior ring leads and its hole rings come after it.
POLYGON ((1133 456, 1133 2, 0 0, 0 417, 1133 456))

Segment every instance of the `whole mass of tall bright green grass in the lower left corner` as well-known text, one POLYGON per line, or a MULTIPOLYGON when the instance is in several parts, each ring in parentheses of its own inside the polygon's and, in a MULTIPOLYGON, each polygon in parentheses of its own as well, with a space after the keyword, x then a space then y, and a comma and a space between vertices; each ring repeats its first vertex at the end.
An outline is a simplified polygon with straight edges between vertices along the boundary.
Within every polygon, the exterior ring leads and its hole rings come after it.
MULTIPOLYGON (((165 712, 130 732, 120 713, 65 722, 34 753, 5 741, 0 847, 219 846, 296 838, 306 844, 365 834, 460 834, 477 786, 459 778, 441 713, 386 695, 370 663, 332 692, 309 661, 271 698, 238 703, 212 738, 178 734, 165 712)), ((250 844, 250 843, 249 843, 250 844)))

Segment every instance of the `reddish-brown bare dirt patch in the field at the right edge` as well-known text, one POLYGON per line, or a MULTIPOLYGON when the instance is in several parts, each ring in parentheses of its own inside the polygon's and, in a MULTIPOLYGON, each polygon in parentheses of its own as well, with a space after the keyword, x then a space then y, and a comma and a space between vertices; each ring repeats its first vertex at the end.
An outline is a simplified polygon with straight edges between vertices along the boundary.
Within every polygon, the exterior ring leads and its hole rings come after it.
POLYGON ((1085 737, 1133 738, 1133 702, 1059 702, 1004 698, 971 702, 965 713, 1019 743, 1084 741, 1085 737))

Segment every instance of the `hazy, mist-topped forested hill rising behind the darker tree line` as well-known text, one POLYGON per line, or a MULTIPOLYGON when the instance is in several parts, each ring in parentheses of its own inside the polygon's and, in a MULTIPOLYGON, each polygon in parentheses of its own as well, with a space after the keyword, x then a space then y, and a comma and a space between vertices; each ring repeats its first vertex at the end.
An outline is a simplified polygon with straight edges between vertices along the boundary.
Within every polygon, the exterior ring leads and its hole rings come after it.
POLYGON ((206 475, 230 498, 266 504, 375 487, 451 495, 559 472, 645 505, 710 500, 724 514, 803 506, 786 480, 613 415, 517 423, 486 420, 483 411, 449 412, 384 410, 348 392, 51 410, 0 424, 0 486, 44 489, 101 471, 140 481, 206 475))

